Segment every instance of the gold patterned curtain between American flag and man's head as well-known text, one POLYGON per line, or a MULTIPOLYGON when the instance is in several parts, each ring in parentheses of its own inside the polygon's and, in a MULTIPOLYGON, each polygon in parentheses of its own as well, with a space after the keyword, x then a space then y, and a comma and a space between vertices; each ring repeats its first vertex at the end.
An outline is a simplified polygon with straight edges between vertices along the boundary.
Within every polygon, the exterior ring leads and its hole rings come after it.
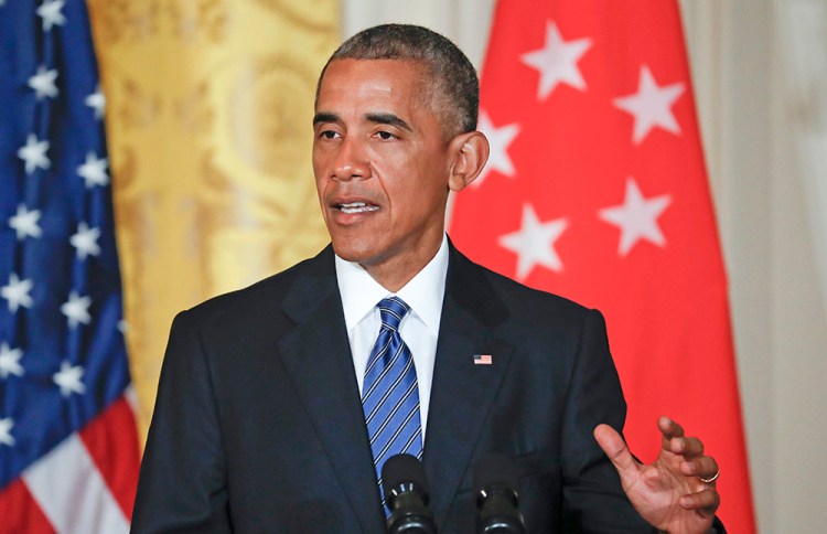
POLYGON ((146 436, 174 314, 327 242, 310 159, 337 0, 89 0, 146 436))

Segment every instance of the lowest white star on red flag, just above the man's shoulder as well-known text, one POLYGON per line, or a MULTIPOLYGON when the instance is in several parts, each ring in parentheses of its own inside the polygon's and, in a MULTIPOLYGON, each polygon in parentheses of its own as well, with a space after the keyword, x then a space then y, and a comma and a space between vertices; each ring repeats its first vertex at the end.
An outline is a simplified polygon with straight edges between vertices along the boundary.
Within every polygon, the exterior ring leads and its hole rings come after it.
POLYGON ((557 273, 562 270, 555 242, 568 225, 565 218, 543 223, 530 204, 523 205, 522 227, 500 237, 500 246, 517 255, 517 279, 525 280, 537 265, 557 273))

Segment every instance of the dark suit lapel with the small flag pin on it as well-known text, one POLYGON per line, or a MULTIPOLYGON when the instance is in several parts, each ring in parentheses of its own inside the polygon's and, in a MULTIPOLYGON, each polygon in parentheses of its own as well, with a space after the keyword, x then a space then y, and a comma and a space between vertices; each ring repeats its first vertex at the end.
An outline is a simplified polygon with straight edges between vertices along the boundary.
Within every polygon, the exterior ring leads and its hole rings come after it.
POLYGON ((444 524, 513 349, 493 329, 507 310, 483 270, 451 247, 425 442, 431 510, 444 524), (474 364, 490 354, 491 365, 474 364))

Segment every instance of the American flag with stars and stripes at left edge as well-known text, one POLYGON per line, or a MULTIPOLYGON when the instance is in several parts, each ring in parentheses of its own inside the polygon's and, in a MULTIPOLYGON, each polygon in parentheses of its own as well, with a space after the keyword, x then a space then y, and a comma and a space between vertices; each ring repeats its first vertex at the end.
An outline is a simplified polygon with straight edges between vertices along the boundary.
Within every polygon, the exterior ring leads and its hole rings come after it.
POLYGON ((0 532, 127 532, 139 448, 83 0, 0 0, 0 532))

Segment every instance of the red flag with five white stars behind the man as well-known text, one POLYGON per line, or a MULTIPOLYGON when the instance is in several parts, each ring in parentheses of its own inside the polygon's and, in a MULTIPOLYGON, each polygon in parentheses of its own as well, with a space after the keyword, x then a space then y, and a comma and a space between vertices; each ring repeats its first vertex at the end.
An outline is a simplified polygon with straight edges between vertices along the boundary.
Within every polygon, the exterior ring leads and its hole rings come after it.
POLYGON ((501 1, 483 68, 483 174, 453 206, 461 250, 598 308, 652 461, 656 420, 720 467, 719 515, 754 532, 727 279, 677 2, 501 1))

